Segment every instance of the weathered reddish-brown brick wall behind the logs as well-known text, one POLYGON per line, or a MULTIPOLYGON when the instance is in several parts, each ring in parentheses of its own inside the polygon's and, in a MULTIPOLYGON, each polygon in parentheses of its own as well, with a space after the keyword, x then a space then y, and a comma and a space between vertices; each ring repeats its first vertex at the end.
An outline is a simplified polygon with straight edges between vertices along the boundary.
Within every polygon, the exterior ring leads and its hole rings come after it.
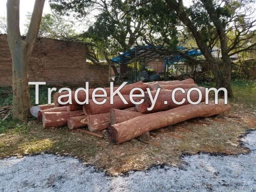
MULTIPOLYGON (((108 83, 108 65, 85 62, 87 49, 82 43, 40 38, 37 39, 29 61, 29 81, 45 81, 61 85, 108 83)), ((5 34, 0 34, 0 86, 11 85, 11 56, 5 34)))

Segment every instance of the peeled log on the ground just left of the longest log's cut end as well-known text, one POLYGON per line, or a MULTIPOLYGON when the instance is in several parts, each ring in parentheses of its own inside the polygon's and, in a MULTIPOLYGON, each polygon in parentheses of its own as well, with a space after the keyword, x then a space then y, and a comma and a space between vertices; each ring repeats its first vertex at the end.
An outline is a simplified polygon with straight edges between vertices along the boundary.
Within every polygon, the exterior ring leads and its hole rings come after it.
MULTIPOLYGON (((136 110, 135 107, 129 107, 129 108, 125 108, 122 111, 134 113, 134 110, 136 110)), ((108 128, 108 126, 110 126, 109 112, 88 115, 87 125, 88 125, 88 129, 91 132, 100 131, 108 128)))

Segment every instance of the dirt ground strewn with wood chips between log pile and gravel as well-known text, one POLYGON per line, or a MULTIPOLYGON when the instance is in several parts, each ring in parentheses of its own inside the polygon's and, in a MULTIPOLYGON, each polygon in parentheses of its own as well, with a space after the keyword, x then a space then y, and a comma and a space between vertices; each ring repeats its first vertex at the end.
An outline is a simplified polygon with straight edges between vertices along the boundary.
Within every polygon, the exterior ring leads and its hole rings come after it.
POLYGON ((182 154, 210 152, 247 153, 240 137, 256 128, 256 106, 231 102, 224 115, 196 118, 152 131, 149 143, 132 139, 111 144, 106 131, 103 139, 71 132, 67 127, 44 129, 36 120, 25 129, 0 134, 0 158, 52 153, 70 155, 84 164, 95 165, 110 174, 141 170, 155 164, 179 166, 182 154))

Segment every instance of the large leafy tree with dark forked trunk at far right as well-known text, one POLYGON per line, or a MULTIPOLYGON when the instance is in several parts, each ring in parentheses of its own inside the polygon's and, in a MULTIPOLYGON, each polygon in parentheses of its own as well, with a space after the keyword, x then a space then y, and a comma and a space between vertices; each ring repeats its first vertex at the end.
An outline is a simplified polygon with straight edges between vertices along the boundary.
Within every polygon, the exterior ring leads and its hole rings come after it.
POLYGON ((216 87, 225 87, 229 96, 233 96, 230 73, 230 55, 255 48, 256 42, 249 42, 254 35, 244 35, 255 26, 255 18, 246 4, 253 0, 194 0, 193 5, 185 7, 182 0, 165 0, 168 7, 174 10, 179 20, 192 33, 198 48, 208 63, 215 69, 216 87), (235 38, 228 39, 227 33, 235 31, 235 38), (232 43, 228 41, 231 40, 232 43), (219 42, 221 60, 210 53, 210 48, 219 42))

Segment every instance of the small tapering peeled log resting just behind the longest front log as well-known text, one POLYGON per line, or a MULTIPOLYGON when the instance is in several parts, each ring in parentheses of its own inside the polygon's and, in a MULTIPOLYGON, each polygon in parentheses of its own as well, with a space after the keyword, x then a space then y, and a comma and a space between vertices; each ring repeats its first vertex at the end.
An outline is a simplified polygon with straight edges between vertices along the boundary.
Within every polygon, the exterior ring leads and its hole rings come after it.
POLYGON ((141 112, 133 112, 112 108, 109 111, 110 124, 116 124, 134 118, 136 116, 143 115, 141 112))

